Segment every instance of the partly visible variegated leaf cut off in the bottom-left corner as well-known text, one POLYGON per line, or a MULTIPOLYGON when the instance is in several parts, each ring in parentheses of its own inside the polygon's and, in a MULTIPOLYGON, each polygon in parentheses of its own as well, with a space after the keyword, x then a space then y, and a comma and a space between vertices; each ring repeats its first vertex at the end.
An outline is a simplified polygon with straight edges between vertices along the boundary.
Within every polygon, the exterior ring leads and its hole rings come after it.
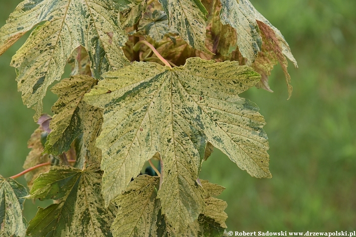
POLYGON ((22 209, 26 188, 15 180, 0 175, 0 236, 25 236, 22 209))

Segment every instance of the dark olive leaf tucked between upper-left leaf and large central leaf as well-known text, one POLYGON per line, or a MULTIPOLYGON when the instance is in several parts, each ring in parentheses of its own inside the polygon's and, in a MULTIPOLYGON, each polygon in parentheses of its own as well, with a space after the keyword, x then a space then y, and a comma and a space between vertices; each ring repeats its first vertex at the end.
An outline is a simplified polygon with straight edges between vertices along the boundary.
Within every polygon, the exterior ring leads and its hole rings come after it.
POLYGON ((93 160, 100 160, 101 153, 94 142, 101 130, 102 110, 82 100, 96 82, 89 76, 77 75, 63 79, 51 88, 60 97, 52 107, 56 115, 50 122, 52 131, 45 143, 46 153, 59 155, 68 151, 74 139, 84 133, 85 147, 94 156, 93 160))

